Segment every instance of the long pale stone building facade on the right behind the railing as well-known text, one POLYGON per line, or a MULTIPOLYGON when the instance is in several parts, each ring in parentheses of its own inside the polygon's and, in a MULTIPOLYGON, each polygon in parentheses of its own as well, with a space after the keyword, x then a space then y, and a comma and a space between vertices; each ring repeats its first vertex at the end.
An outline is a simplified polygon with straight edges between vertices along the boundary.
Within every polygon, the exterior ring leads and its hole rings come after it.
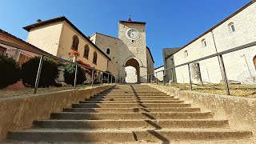
MULTIPOLYGON (((198 58, 203 58, 211 54, 216 54, 225 50, 246 45, 256 41, 256 2, 249 2, 240 10, 219 22, 216 26, 207 30, 181 49, 164 58, 165 68, 178 66, 182 63, 190 62, 198 58)), ((238 50, 230 54, 224 54, 223 61, 226 66, 226 74, 229 80, 241 83, 255 83, 256 77, 256 46, 250 46, 243 50, 238 50)), ((200 71, 194 71, 192 81, 219 83, 222 80, 222 73, 218 58, 209 58, 190 65, 200 71), (198 73, 199 72, 199 73, 198 73), (200 74, 200 75, 198 75, 200 74)), ((193 71, 192 70, 192 71, 193 71)), ((171 71, 168 71, 171 80, 171 71)), ((178 83, 188 83, 188 66, 181 66, 174 70, 174 81, 178 83)))

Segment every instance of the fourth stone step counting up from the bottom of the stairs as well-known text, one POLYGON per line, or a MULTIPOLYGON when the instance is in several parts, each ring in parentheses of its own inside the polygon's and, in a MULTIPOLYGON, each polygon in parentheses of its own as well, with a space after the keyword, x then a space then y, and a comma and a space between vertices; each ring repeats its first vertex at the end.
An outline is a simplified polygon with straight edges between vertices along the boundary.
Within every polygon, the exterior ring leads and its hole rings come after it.
POLYGON ((67 108, 66 112, 86 113, 133 113, 133 112, 200 112, 198 107, 163 107, 163 108, 67 108))

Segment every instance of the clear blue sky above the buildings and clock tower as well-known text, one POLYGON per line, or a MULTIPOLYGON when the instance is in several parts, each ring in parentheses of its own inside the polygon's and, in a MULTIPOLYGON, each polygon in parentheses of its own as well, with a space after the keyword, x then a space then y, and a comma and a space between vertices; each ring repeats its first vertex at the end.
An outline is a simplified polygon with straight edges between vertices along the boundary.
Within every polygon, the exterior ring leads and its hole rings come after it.
POLYGON ((118 21, 146 23, 146 44, 155 67, 162 65, 162 49, 184 46, 233 14, 250 0, 2 0, 0 28, 26 40, 23 26, 38 18, 66 16, 84 34, 118 37, 118 21))

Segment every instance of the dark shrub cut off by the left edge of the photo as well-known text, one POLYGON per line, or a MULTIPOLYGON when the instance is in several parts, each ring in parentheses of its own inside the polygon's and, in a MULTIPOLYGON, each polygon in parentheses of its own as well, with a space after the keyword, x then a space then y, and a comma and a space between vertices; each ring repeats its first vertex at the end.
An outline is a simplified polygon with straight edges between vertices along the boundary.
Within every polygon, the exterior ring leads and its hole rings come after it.
POLYGON ((20 79, 20 66, 13 58, 0 55, 0 88, 18 82, 20 79))

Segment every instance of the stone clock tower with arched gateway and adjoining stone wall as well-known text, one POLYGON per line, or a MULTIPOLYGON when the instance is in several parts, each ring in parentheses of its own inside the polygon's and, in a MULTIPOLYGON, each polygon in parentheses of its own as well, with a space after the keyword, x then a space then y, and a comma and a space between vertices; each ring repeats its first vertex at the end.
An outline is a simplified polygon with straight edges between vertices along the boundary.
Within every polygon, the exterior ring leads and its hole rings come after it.
POLYGON ((146 82, 143 76, 154 72, 154 59, 146 46, 146 22, 119 21, 118 38, 95 33, 90 40, 110 56, 108 71, 125 77, 126 82, 146 82), (134 72, 137 78, 127 75, 134 72))

